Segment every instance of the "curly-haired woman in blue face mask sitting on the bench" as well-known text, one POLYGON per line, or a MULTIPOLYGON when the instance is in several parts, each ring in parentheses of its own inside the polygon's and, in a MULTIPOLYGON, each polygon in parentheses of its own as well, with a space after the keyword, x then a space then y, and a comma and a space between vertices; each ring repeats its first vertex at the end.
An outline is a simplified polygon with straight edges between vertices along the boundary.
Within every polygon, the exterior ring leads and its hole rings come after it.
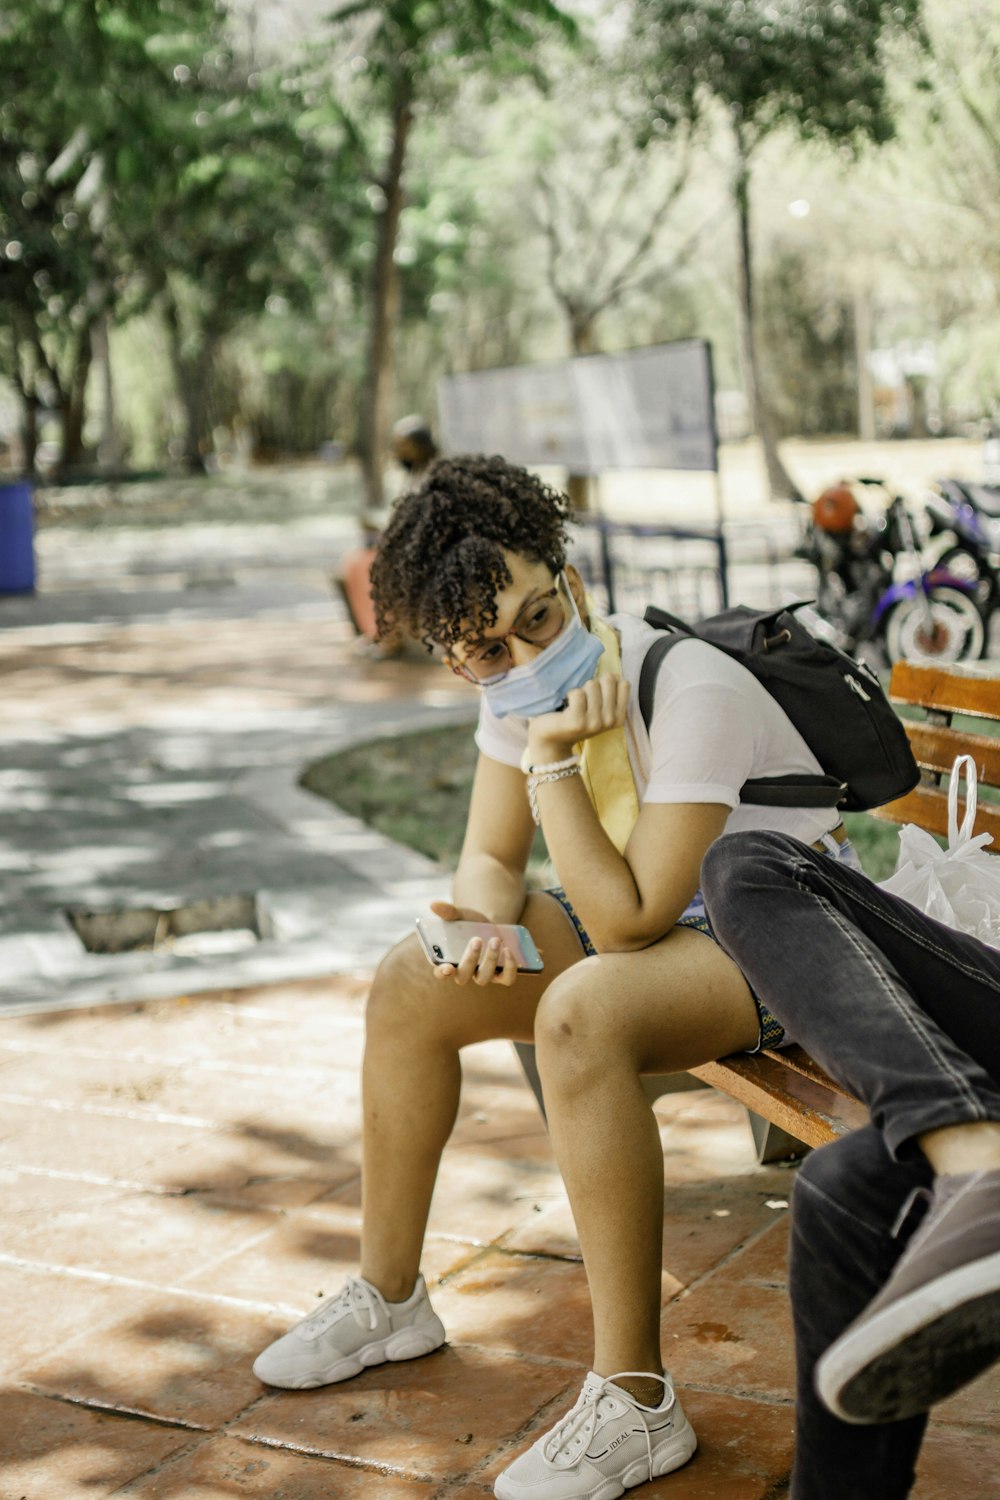
POLYGON ((619 1494, 696 1448, 660 1353, 663 1156, 640 1084, 781 1034, 712 940, 699 896, 724 831, 774 828, 853 858, 835 810, 741 806, 751 777, 820 774, 756 678, 682 642, 649 732, 639 669, 654 632, 591 614, 565 558, 568 501, 501 459, 450 459, 405 496, 373 568, 382 632, 403 627, 481 688, 466 837, 433 910, 522 922, 544 957, 496 942, 432 969, 415 939, 378 970, 364 1058, 361 1276, 256 1360, 286 1388, 343 1380, 444 1341, 418 1274, 459 1052, 534 1041, 549 1131, 594 1305, 594 1370, 573 1408, 496 1480, 514 1500, 619 1494), (528 891, 544 831, 559 888, 528 891))

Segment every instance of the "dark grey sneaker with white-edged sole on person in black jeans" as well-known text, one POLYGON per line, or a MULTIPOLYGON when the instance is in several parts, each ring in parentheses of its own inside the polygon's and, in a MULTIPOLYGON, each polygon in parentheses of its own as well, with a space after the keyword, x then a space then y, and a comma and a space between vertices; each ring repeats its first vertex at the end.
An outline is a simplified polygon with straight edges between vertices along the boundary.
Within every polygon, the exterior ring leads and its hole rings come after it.
POLYGON ((816 1366, 844 1422, 927 1412, 1000 1359, 1000 1172, 939 1178, 879 1296, 816 1366))

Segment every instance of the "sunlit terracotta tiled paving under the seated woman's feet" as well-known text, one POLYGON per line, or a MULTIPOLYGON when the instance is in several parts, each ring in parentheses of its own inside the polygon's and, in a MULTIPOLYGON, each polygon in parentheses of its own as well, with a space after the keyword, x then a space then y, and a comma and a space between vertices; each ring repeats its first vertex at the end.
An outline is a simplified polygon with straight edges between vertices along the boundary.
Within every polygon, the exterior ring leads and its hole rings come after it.
MULTIPOLYGON (((253 1378, 357 1262, 361 1005, 333 980, 0 1020, 0 1500, 487 1496, 574 1396, 586 1280, 507 1044, 469 1053, 435 1197, 447 1347, 327 1390, 253 1378)), ((657 1108, 664 1347, 702 1446, 639 1494, 774 1500, 790 1168, 754 1166, 727 1100, 657 1108)), ((999 1398, 940 1410, 916 1500, 1000 1492, 999 1398)))

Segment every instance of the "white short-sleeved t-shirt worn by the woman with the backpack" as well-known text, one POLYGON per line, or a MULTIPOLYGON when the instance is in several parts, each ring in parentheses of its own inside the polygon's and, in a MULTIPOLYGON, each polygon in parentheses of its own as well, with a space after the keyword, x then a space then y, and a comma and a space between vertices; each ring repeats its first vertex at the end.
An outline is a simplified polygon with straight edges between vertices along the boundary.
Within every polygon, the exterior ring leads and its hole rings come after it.
MULTIPOLYGON (((649 732, 639 711, 639 672, 657 632, 631 615, 612 615, 622 676, 631 684, 625 740, 642 802, 721 802, 732 812, 726 832, 774 828, 813 843, 840 822, 837 808, 756 807, 739 801, 744 782, 759 776, 820 776, 802 735, 757 678, 703 640, 685 640, 664 657, 649 732)), ((475 732, 480 750, 520 766, 528 720, 498 718, 481 694, 475 732)))

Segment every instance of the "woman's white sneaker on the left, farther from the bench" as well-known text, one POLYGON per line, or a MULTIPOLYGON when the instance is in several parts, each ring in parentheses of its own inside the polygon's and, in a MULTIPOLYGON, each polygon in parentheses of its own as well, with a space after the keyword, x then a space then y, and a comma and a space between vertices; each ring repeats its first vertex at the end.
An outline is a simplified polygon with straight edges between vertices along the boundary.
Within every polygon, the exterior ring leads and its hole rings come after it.
POLYGON ((444 1323, 423 1276, 406 1302, 387 1302, 369 1281, 348 1276, 343 1292, 258 1354, 253 1374, 268 1386, 310 1390, 360 1376, 387 1359, 417 1359, 444 1344, 444 1323))

